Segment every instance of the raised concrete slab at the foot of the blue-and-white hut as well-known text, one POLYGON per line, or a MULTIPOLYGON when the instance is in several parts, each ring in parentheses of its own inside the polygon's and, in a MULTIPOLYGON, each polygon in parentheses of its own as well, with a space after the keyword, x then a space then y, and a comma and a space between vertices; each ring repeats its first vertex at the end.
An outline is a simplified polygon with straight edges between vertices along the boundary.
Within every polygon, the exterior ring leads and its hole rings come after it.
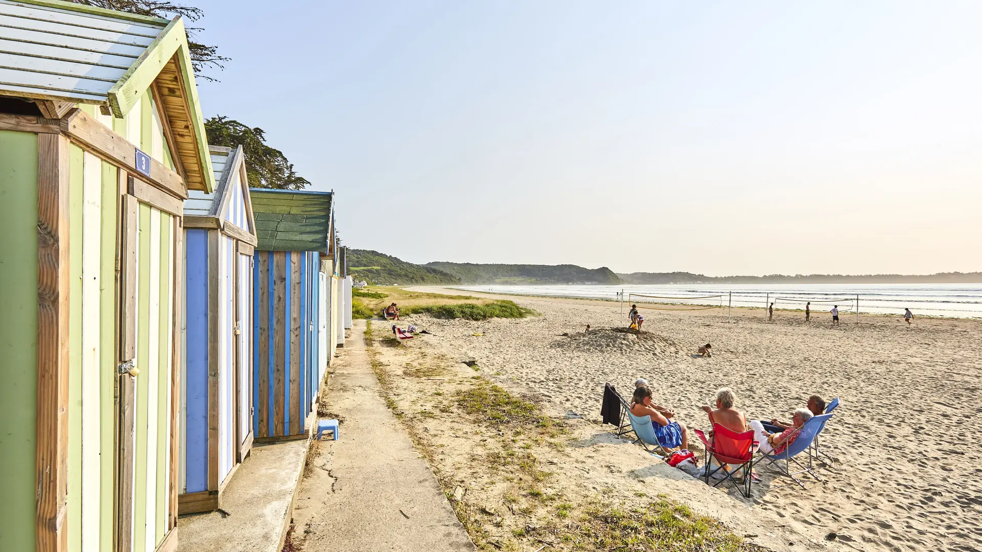
POLYGON ((306 439, 253 445, 222 493, 218 512, 178 519, 178 552, 280 552, 306 439))

